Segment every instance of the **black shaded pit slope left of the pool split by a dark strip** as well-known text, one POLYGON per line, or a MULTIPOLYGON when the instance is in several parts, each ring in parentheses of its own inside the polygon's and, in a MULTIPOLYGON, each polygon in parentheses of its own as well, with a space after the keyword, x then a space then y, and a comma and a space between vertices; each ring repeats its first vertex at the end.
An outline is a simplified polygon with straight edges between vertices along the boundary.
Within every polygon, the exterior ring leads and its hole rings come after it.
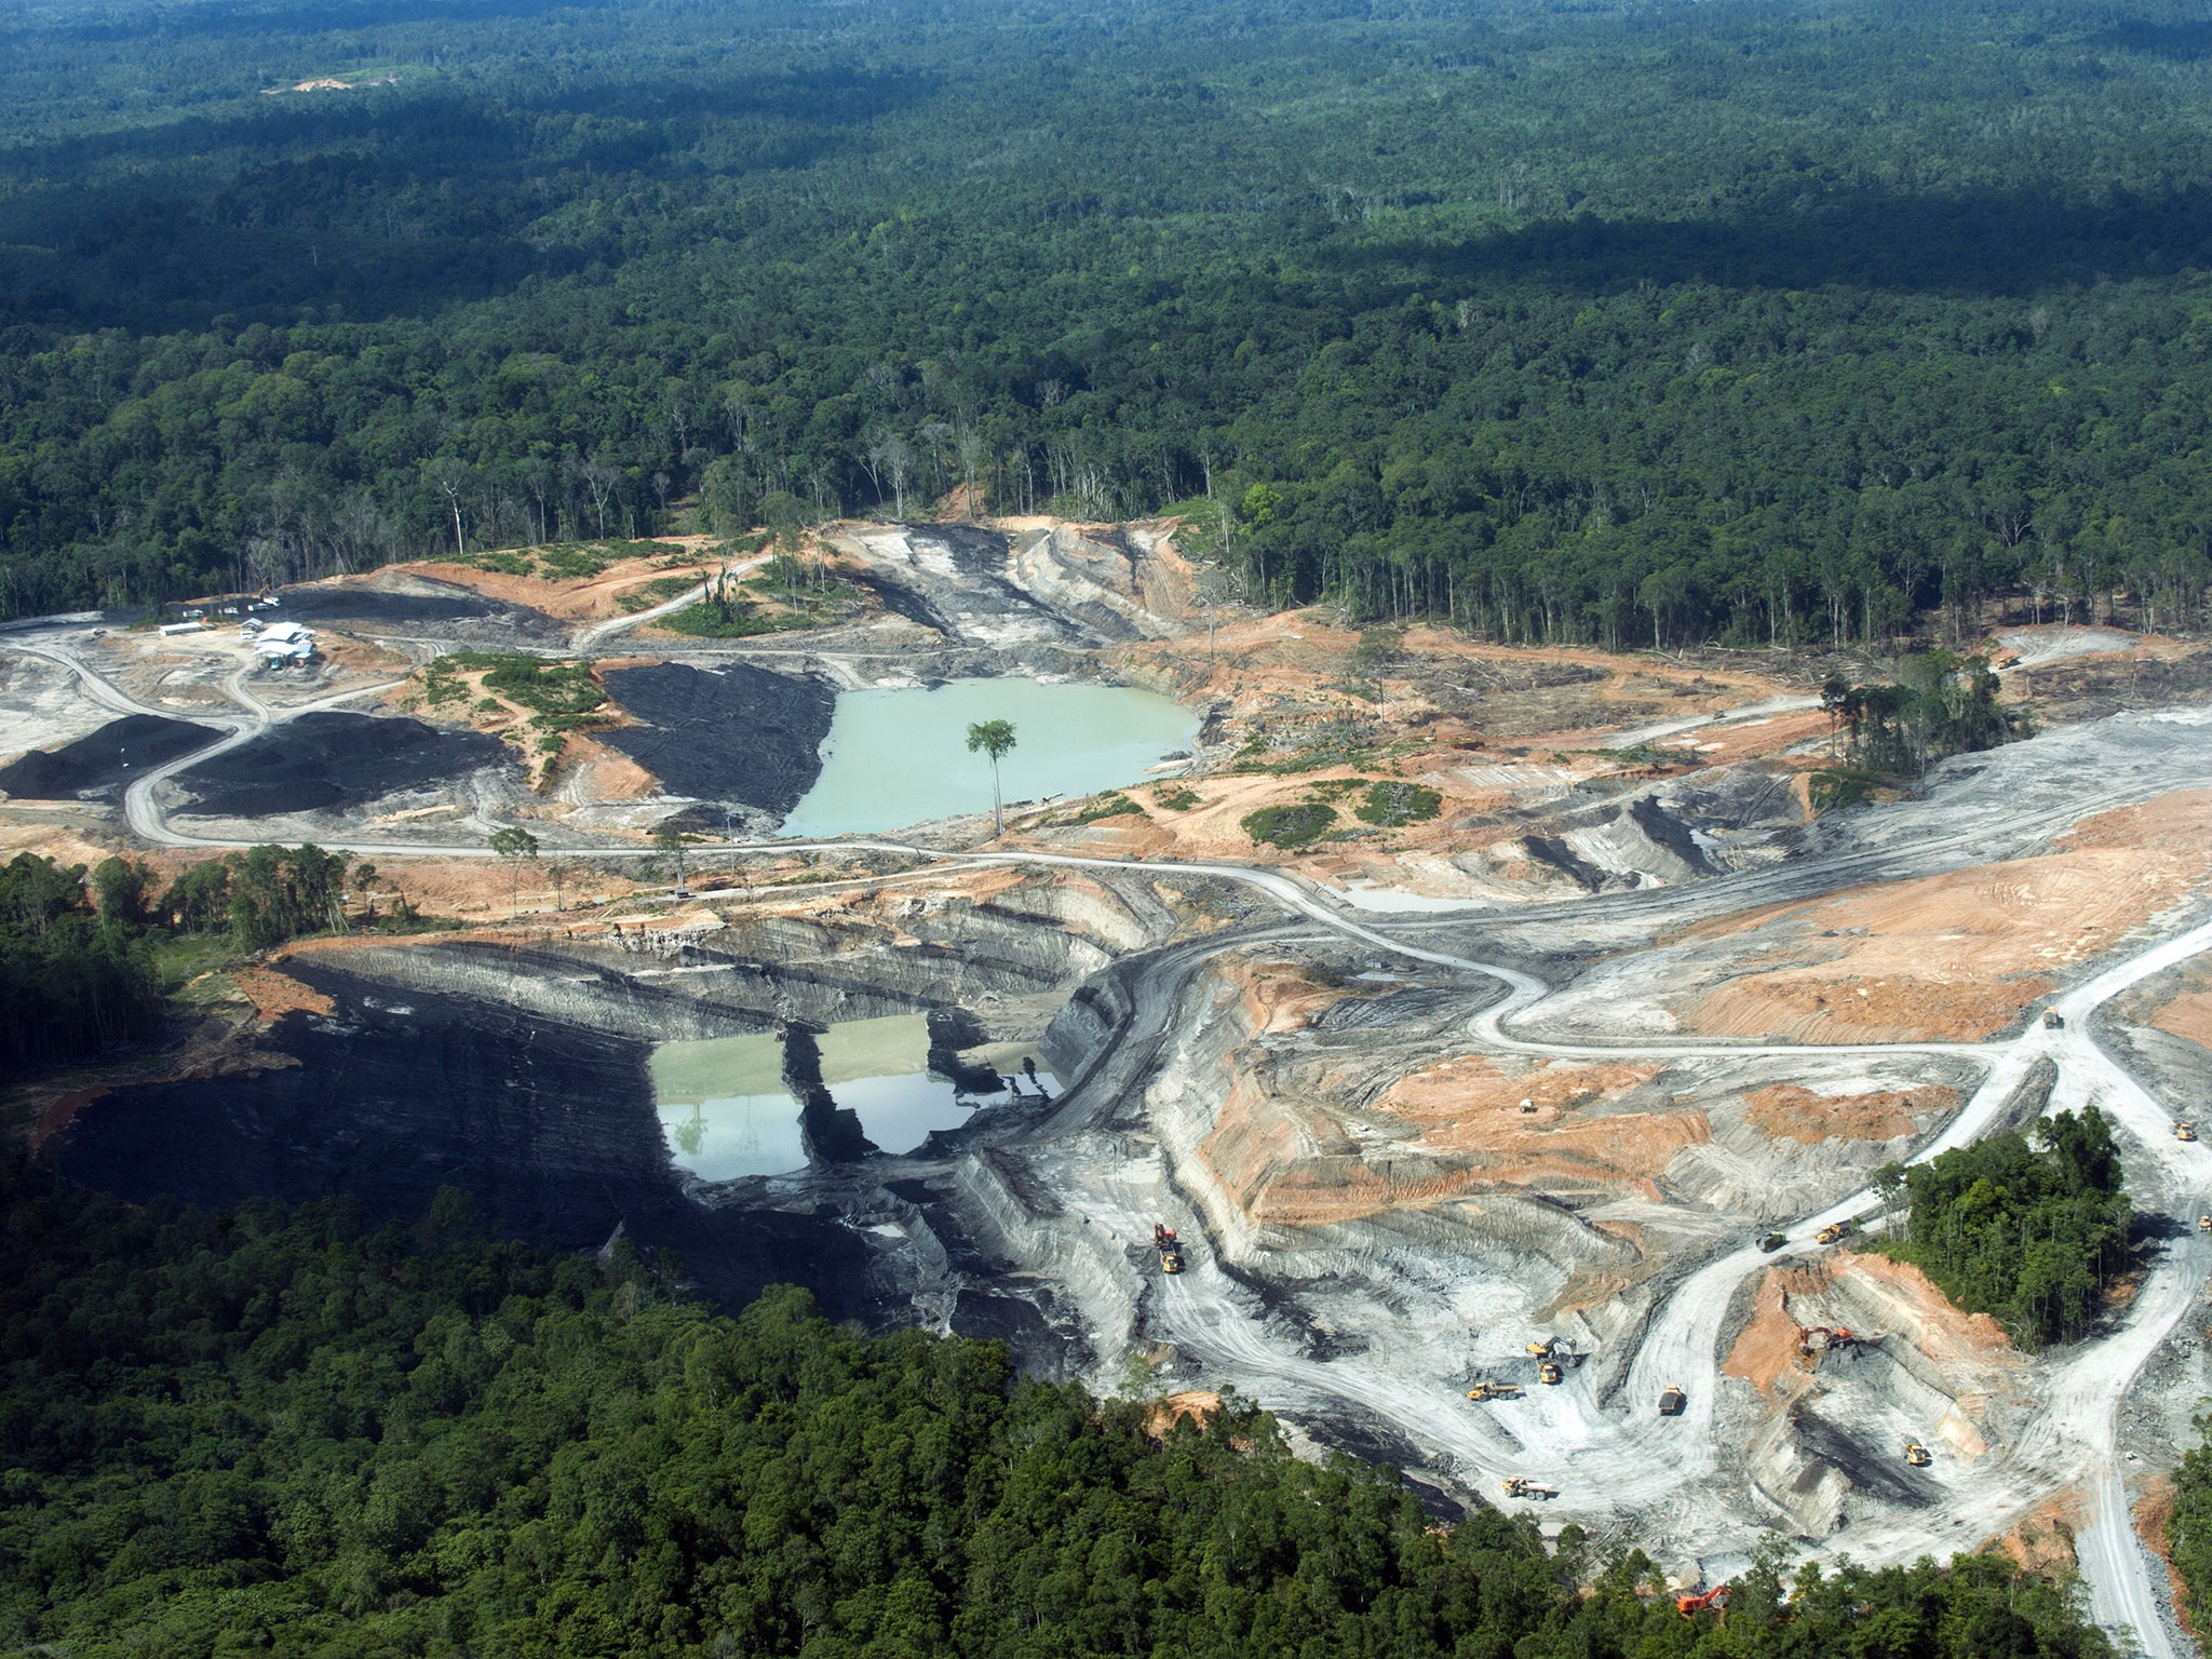
POLYGON ((115 1091, 62 1135, 62 1170, 133 1201, 345 1192, 378 1221, 416 1221, 458 1186, 489 1225, 555 1250, 597 1248, 617 1225, 672 1248, 726 1307, 796 1283, 834 1318, 885 1316, 867 1301, 867 1245, 836 1217, 684 1197, 644 1042, 323 964, 288 971, 334 1002, 270 1033, 296 1066, 115 1091))

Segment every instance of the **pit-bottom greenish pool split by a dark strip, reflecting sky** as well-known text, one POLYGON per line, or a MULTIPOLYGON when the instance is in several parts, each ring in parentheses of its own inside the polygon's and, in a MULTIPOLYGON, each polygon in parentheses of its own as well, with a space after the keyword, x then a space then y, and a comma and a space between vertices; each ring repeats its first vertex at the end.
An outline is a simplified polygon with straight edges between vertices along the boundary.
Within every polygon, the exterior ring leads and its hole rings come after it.
MULTIPOLYGON (((929 1071, 929 1024, 918 1013, 847 1020, 818 1040, 823 1086, 858 1115, 860 1133, 885 1152, 911 1152, 931 1130, 958 1128, 980 1104, 929 1071)), ((1020 1071, 1015 1055, 984 1051, 987 1064, 1020 1071)), ((807 1166, 799 1102, 783 1086, 783 1040, 772 1033, 664 1042, 653 1051, 653 1099, 668 1155, 701 1181, 792 1175, 807 1166)), ((1053 1073, 1042 1086, 1060 1093, 1053 1073)), ((1040 1084, 1022 1091, 1037 1097, 1040 1084)), ((1040 1099, 1042 1104, 1042 1099, 1040 1099)))

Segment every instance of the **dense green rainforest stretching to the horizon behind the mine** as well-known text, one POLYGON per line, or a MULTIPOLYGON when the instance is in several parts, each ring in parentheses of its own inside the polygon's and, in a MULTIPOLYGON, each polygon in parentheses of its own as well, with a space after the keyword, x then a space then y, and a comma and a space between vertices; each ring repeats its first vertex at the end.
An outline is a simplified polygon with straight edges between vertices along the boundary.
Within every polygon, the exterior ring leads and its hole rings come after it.
POLYGON ((0 608, 962 489, 1511 639, 2192 624, 2208 82, 2185 0, 18 2, 0 608))

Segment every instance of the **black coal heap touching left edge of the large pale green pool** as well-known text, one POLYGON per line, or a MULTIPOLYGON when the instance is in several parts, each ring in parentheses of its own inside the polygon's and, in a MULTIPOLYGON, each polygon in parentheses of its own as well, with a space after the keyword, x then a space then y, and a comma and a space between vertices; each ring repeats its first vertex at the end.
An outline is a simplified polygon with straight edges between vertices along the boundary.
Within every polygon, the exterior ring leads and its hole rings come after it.
POLYGON ((602 734, 670 794, 785 814, 823 770, 836 692, 750 664, 615 668, 606 688, 639 726, 602 734))

